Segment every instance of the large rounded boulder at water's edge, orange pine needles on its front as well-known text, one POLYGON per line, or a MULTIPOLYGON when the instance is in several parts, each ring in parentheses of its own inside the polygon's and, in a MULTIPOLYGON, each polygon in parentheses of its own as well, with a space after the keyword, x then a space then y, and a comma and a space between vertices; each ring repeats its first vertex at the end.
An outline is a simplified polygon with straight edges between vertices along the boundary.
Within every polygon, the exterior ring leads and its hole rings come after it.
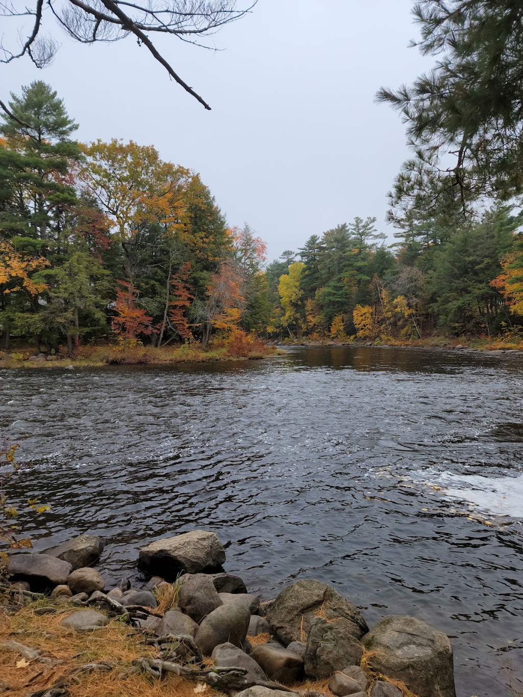
POLYGON ((310 623, 319 611, 328 620, 343 619, 350 634, 357 639, 368 631, 358 608, 321 581, 297 581, 287 586, 268 606, 266 617, 271 634, 287 646, 291 641, 306 640, 310 623))

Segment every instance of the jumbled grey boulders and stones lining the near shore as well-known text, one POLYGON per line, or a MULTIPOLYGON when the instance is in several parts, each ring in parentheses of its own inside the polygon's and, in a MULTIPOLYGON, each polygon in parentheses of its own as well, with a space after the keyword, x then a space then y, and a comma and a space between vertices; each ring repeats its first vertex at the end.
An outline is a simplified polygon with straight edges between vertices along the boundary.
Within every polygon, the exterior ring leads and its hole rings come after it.
MULTIPOLYGON (((63 614, 59 625, 75 633, 99 631, 114 618, 128 623, 154 649, 133 670, 153 680, 179 675, 233 697, 455 697, 445 634, 406 615, 369 628, 356 605, 317 580, 262 601, 223 570, 215 533, 195 530, 140 549, 137 562, 149 578, 142 588, 126 579, 106 588, 93 567, 102 551, 102 539, 82 535, 45 553, 13 553, 3 593, 18 602, 45 598, 38 612, 63 614)), ((45 666, 41 652, 18 640, 1 643, 1 654, 45 666)), ((90 670, 110 670, 107 661, 90 670)), ((66 696, 68 685, 24 694, 66 696)))

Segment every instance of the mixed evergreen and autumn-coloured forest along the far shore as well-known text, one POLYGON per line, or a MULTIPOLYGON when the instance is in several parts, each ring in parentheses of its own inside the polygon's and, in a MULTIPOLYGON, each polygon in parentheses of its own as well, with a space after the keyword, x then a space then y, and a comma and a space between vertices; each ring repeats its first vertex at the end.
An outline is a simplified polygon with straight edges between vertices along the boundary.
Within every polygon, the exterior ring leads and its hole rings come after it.
POLYGON ((257 233, 229 227, 199 174, 153 146, 79 143, 41 81, 11 95, 10 111, 0 128, 4 352, 521 341, 523 213, 510 204, 492 199, 461 220, 448 206, 391 212, 393 244, 374 217, 355 217, 266 263, 257 233))

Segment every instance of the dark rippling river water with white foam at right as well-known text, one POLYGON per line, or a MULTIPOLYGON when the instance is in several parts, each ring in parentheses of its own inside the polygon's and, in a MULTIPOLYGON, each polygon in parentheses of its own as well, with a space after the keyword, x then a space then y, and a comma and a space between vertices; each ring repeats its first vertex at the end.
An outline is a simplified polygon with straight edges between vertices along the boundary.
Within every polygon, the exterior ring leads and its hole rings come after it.
POLYGON ((105 538, 100 570, 194 528, 274 597, 335 585, 369 625, 445 631, 459 697, 523 693, 523 360, 404 348, 292 348, 176 367, 0 371, 13 498, 43 551, 105 538))

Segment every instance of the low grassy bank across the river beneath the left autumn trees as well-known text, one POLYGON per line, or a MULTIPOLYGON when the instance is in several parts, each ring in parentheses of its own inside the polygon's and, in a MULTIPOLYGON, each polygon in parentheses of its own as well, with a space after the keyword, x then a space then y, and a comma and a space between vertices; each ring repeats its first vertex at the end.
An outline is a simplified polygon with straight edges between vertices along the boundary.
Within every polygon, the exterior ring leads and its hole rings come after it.
POLYGON ((82 346, 73 358, 67 355, 39 353, 31 355, 27 348, 0 351, 0 368, 66 368, 102 367, 107 365, 174 365, 216 361, 261 360, 285 355, 285 349, 261 342, 243 346, 216 346, 203 349, 200 344, 183 344, 166 348, 139 346, 121 351, 114 346, 82 346))

